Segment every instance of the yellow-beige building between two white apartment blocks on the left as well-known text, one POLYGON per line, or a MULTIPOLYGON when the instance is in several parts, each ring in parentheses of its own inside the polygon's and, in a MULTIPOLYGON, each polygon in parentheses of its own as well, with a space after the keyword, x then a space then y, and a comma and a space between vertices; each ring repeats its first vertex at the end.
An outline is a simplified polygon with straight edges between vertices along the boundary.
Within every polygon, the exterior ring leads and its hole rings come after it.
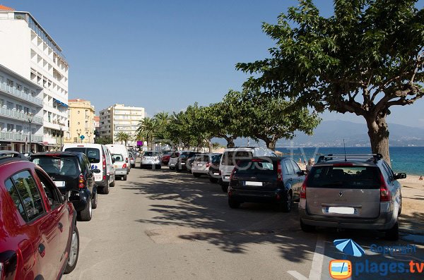
POLYGON ((68 100, 69 131, 65 133, 65 143, 94 143, 95 110, 91 102, 83 99, 68 100), (81 136, 83 139, 81 140, 81 136))

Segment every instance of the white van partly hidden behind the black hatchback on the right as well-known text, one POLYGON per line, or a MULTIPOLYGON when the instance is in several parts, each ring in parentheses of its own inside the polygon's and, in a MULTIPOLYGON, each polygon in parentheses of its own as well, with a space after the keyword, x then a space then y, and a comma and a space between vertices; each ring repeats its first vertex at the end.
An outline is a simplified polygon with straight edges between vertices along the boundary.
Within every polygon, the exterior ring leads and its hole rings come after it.
POLYGON ((228 183, 230 183, 230 176, 232 169, 234 169, 237 160, 251 159, 252 157, 276 157, 273 150, 266 147, 233 147, 227 148, 223 152, 223 157, 220 160, 219 171, 221 178, 219 183, 226 192, 228 183))

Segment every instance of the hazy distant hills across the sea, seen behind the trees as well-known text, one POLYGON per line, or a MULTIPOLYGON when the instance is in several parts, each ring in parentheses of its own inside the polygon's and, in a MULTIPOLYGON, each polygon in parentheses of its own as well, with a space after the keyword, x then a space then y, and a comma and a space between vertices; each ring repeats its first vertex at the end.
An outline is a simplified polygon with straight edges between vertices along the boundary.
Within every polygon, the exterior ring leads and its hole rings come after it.
MULTIPOLYGON (((346 147, 370 146, 370 138, 367 134, 367 126, 365 123, 353 123, 351 121, 323 121, 314 130, 314 135, 308 136, 305 133, 296 133, 293 142, 280 140, 277 147, 341 147, 343 139, 346 147)), ((389 145, 391 146, 424 146, 424 129, 413 128, 410 126, 402 126, 399 124, 389 123, 389 145)), ((226 145, 225 140, 214 139, 221 145, 226 145)), ((236 145, 247 145, 247 139, 237 139, 236 145)), ((250 145, 258 145, 254 141, 250 141, 250 145)), ((264 145, 259 142, 259 145, 264 145)))

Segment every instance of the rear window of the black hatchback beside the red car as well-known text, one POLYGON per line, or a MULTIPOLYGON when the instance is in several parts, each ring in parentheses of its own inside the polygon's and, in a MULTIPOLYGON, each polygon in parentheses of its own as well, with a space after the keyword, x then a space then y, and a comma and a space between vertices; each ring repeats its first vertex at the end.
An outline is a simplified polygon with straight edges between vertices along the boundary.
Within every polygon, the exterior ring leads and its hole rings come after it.
POLYGON ((31 162, 40 165, 49 176, 78 176, 81 174, 76 157, 38 156, 32 157, 31 162))

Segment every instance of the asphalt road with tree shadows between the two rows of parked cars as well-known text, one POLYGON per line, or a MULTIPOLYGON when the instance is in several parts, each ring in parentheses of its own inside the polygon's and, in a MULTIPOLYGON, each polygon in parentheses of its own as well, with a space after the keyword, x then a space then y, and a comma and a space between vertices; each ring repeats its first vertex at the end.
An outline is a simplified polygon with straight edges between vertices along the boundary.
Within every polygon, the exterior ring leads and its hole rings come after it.
POLYGON ((423 279, 424 271, 389 271, 391 262, 408 270, 411 260, 424 263, 422 245, 383 256, 371 245, 409 242, 390 243, 369 231, 303 233, 296 207, 290 213, 255 204, 230 209, 226 194, 206 177, 131 169, 127 181, 99 195, 93 219, 78 222, 78 264, 63 279, 331 279, 329 262, 338 259, 352 261, 352 279, 423 279), (353 238, 366 256, 343 255, 333 245, 337 238, 353 238))

